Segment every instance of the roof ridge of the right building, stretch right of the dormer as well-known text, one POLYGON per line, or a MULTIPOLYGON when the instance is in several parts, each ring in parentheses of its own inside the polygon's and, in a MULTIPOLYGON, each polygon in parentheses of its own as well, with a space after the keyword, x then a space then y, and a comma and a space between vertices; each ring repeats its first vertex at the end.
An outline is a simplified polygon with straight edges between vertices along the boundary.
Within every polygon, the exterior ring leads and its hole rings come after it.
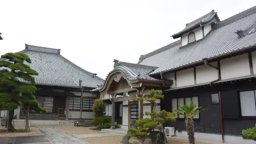
POLYGON ((225 20, 220 21, 219 23, 213 25, 212 30, 216 30, 222 26, 228 25, 236 20, 242 19, 252 13, 256 13, 256 6, 248 8, 247 10, 244 10, 243 12, 237 13, 225 20))

